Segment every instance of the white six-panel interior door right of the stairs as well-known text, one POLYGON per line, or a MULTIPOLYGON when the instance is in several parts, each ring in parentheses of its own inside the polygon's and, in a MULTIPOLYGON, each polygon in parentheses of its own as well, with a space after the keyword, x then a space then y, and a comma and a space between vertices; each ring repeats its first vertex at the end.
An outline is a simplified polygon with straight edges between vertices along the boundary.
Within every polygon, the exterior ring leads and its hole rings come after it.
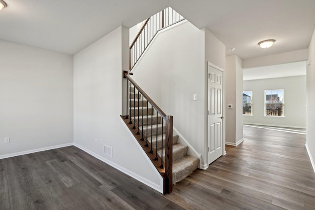
POLYGON ((208 66, 208 164, 222 155, 223 72, 208 66))

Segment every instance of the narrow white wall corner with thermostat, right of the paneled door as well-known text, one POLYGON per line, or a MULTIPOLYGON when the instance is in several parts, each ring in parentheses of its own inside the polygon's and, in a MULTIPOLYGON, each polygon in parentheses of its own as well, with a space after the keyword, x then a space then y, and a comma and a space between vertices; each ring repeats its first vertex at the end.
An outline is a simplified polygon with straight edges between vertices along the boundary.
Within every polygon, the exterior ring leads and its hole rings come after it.
POLYGON ((227 56, 225 72, 225 143, 235 146, 243 140, 242 60, 235 55, 227 56))

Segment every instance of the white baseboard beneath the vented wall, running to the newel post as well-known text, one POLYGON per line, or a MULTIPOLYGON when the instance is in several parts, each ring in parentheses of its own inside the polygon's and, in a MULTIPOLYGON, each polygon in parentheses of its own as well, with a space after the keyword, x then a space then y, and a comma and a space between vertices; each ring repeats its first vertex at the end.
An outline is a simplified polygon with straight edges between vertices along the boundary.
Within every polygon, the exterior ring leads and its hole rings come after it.
POLYGON ((152 181, 142 177, 141 175, 135 174, 134 172, 131 172, 128 169, 126 169, 126 168, 124 168, 124 167, 122 167, 120 165, 117 165, 116 163, 114 163, 114 162, 112 162, 112 161, 110 161, 110 160, 108 160, 108 159, 106 159, 106 158, 104 158, 104 157, 102 157, 102 156, 92 152, 91 150, 89 150, 87 148, 85 148, 85 147, 83 147, 83 146, 81 146, 81 145, 79 145, 77 143, 74 143, 73 145, 78 147, 79 149, 82 149, 83 151, 85 151, 86 153, 92 155, 93 157, 97 158, 98 160, 101 160, 104 163, 106 163, 106 164, 114 167, 115 169, 123 172, 124 174, 131 176, 132 178, 134 178, 134 179, 144 183, 145 185, 147 185, 147 186, 157 190, 160 193, 163 193, 163 185, 162 185, 162 189, 161 189, 161 186, 159 186, 158 184, 153 183, 152 181))

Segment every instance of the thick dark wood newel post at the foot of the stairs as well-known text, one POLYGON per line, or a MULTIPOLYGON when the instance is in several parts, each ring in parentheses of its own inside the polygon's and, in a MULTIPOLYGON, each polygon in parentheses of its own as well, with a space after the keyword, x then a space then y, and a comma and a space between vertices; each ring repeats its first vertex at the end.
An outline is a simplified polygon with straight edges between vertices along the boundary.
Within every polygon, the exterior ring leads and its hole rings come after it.
POLYGON ((165 179, 164 194, 173 188, 173 116, 165 117, 165 179))

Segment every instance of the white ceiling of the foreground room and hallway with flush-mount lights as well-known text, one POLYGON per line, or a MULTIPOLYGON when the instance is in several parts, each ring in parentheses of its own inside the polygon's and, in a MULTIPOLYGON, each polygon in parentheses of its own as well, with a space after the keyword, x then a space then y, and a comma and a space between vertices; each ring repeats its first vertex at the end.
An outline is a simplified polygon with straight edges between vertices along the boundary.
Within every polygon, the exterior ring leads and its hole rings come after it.
POLYGON ((241 59, 308 48, 315 0, 5 0, 0 39, 75 54, 123 25, 171 6, 241 59), (276 39, 261 49, 263 39, 276 39), (228 48, 235 47, 234 52, 228 48))

